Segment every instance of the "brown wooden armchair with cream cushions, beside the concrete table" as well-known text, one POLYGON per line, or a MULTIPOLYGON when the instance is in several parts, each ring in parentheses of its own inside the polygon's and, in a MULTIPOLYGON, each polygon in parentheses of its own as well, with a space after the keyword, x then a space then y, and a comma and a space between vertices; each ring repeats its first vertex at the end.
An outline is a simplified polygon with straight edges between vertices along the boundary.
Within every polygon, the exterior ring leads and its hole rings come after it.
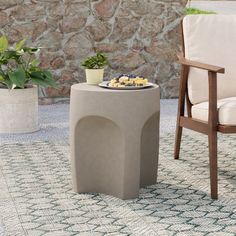
POLYGON ((236 133, 236 15, 186 16, 182 28, 174 158, 183 128, 208 135, 211 197, 217 199, 217 132, 236 133))

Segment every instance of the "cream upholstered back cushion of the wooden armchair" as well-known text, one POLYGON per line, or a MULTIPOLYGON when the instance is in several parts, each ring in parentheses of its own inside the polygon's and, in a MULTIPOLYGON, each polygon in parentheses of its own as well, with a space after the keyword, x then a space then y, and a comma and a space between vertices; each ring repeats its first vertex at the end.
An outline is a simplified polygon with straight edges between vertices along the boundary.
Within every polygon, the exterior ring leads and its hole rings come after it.
MULTIPOLYGON (((225 68, 218 74, 218 99, 236 96, 236 15, 193 15, 183 20, 185 57, 225 68)), ((208 73, 190 69, 192 104, 208 100, 208 73)))

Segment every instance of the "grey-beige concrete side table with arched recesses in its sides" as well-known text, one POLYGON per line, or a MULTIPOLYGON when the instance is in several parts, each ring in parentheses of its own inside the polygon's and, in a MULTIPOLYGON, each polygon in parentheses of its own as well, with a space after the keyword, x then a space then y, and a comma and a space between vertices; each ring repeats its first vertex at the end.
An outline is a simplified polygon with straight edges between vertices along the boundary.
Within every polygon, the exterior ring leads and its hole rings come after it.
POLYGON ((122 199, 156 183, 160 92, 71 88, 70 147, 73 189, 122 199))

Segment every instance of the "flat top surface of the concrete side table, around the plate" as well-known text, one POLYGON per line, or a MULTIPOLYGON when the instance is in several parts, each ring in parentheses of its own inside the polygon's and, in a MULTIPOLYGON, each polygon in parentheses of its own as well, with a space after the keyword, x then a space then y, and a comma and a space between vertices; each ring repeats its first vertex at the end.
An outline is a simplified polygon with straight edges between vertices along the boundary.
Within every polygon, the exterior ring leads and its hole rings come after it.
POLYGON ((88 92, 107 92, 107 93, 140 93, 140 92, 147 92, 153 89, 159 89, 157 84, 153 84, 152 87, 144 88, 144 89, 132 89, 132 90, 118 90, 118 89, 110 89, 110 88, 102 88, 98 85, 91 85, 87 83, 79 83, 72 85, 71 89, 79 90, 79 91, 88 91, 88 92))

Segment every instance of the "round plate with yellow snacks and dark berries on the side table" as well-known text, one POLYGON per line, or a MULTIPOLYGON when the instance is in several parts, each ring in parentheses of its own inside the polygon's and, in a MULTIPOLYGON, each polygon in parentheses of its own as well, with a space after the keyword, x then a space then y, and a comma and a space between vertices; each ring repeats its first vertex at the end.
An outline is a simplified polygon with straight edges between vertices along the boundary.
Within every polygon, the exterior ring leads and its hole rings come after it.
POLYGON ((122 74, 110 81, 99 84, 100 87, 118 90, 135 90, 152 87, 153 84, 142 76, 122 74))

